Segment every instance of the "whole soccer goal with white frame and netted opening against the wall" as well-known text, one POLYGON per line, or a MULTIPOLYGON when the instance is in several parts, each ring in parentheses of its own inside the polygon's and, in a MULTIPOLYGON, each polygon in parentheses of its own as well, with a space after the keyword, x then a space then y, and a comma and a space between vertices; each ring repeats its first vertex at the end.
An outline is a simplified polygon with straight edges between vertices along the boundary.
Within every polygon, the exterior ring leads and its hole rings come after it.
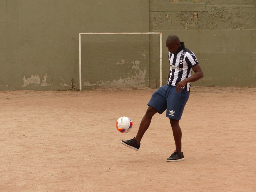
POLYGON ((79 33, 79 90, 162 85, 162 33, 79 33))

